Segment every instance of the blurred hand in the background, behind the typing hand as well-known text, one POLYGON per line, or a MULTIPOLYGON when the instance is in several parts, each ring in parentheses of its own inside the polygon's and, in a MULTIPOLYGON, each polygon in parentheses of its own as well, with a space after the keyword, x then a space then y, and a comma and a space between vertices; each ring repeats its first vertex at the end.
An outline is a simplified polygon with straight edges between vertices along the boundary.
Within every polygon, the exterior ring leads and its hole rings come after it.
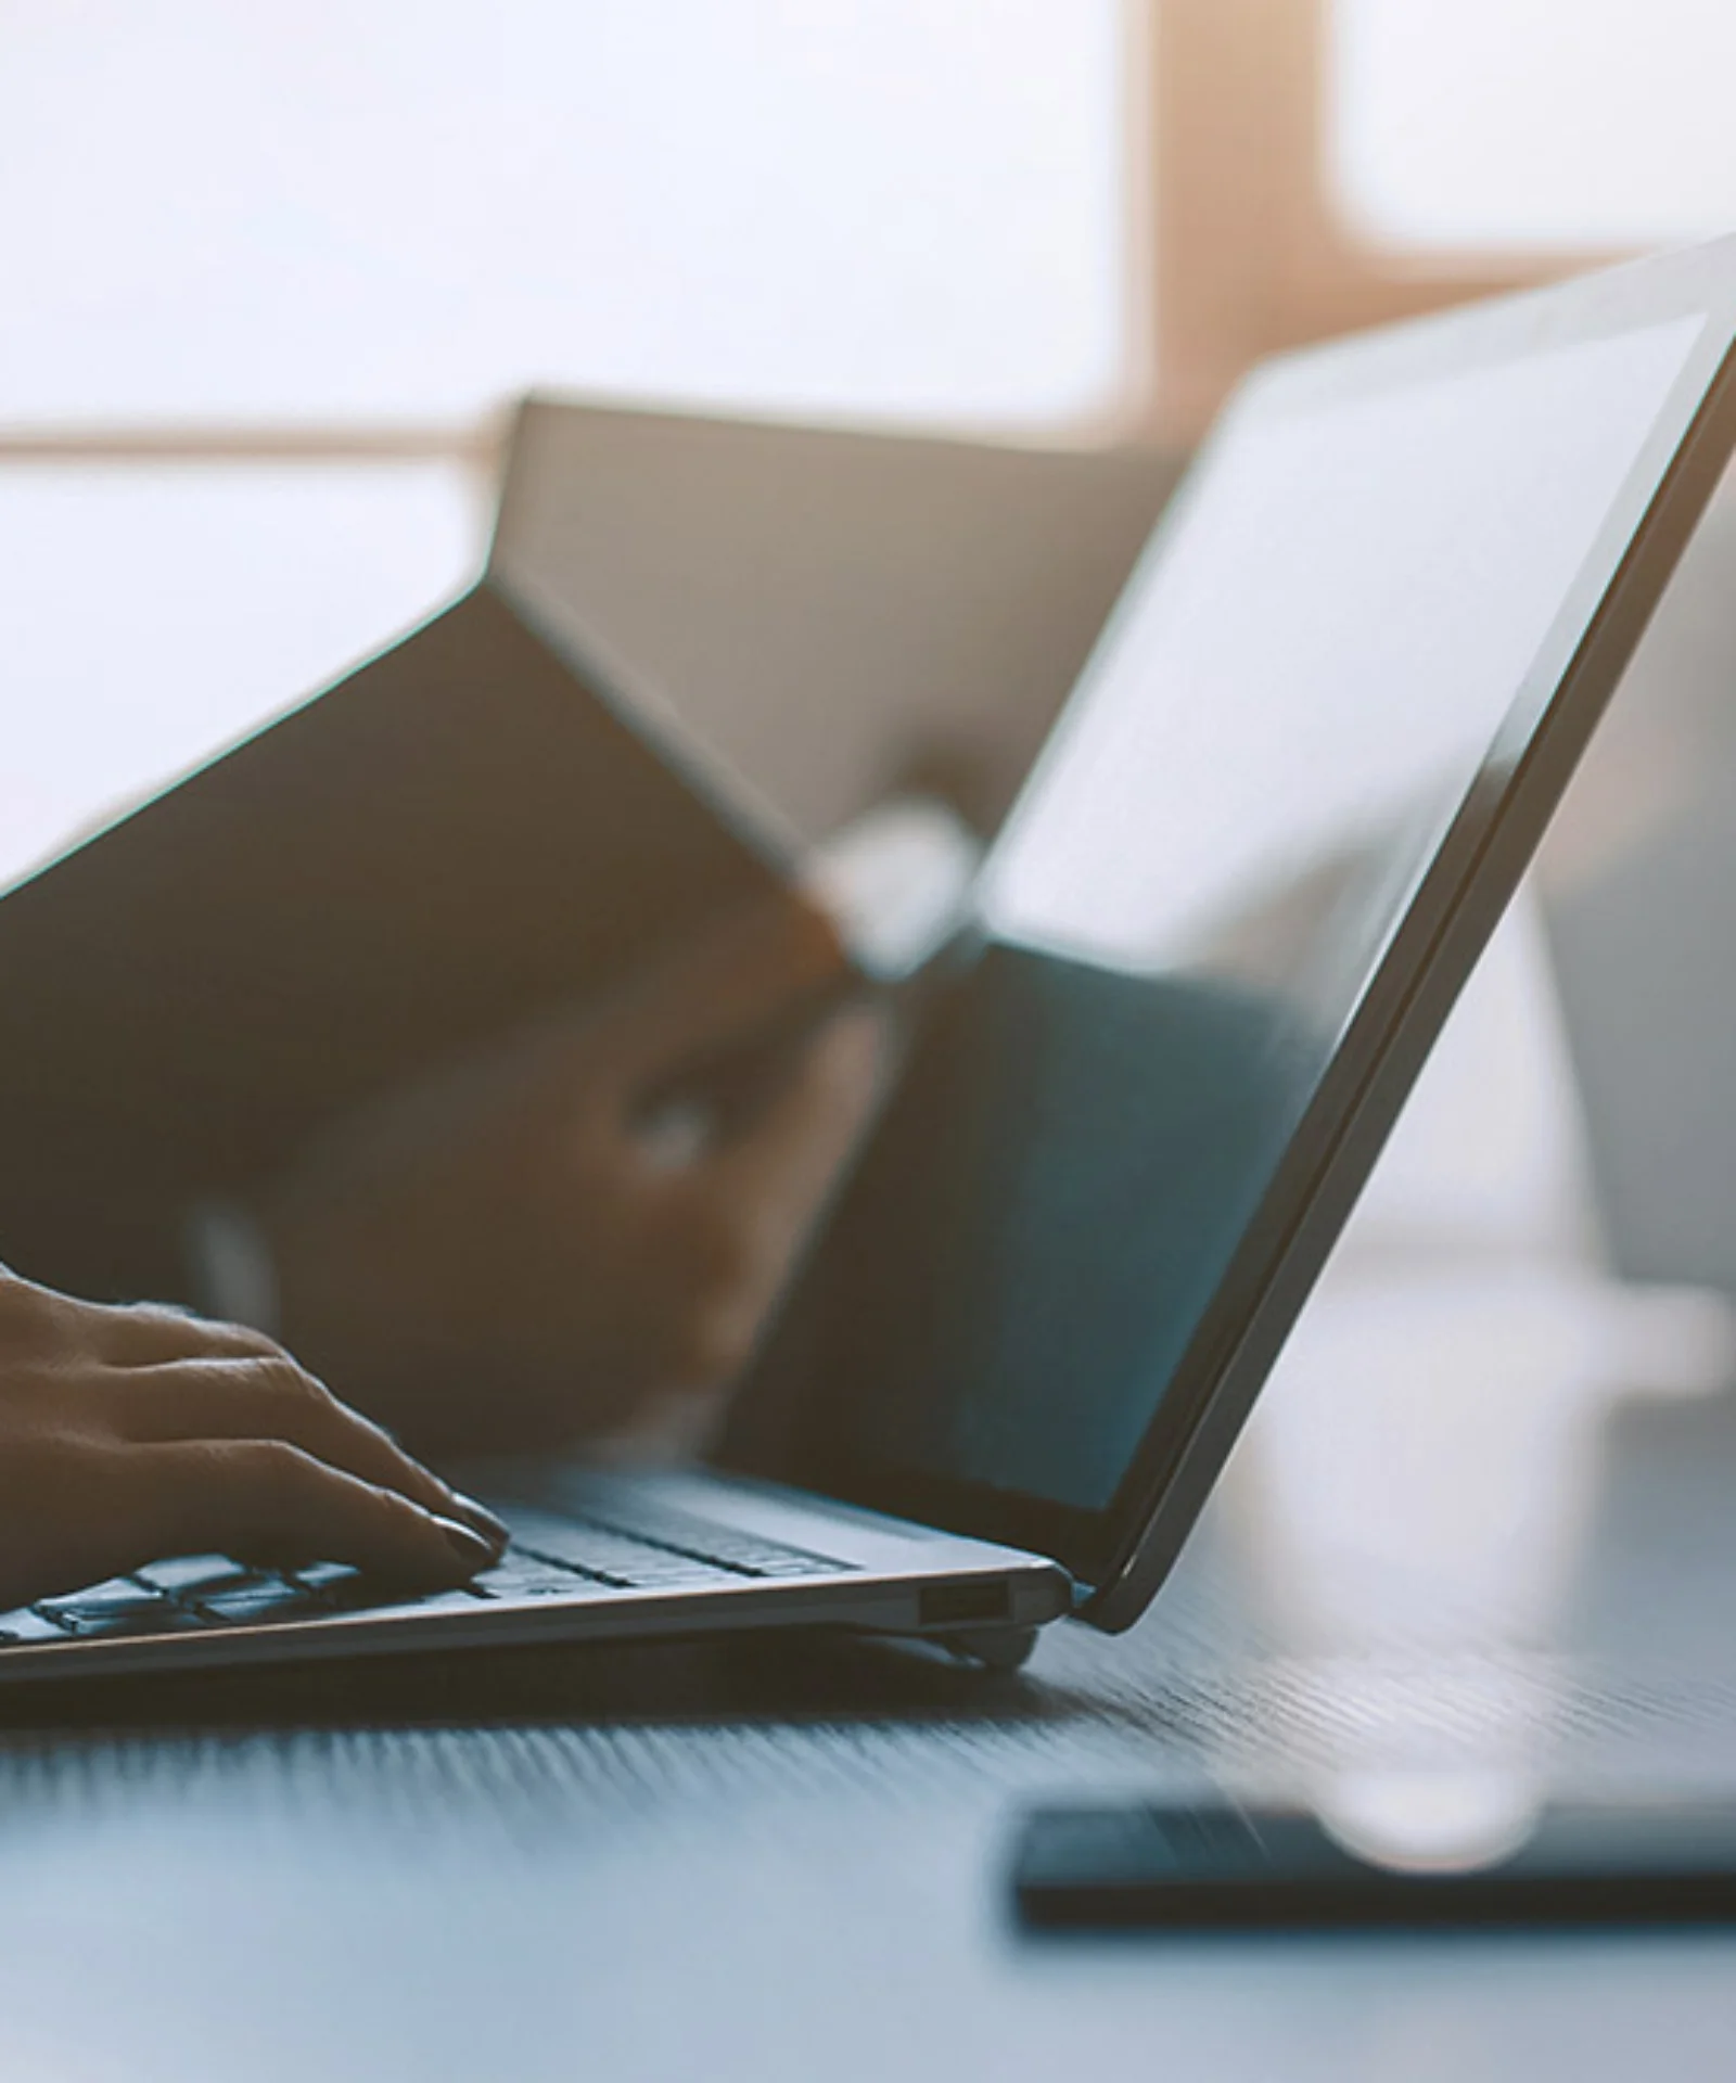
POLYGON ((846 975, 823 917, 779 898, 346 1123, 258 1206, 281 1329, 446 1448, 596 1435, 727 1379, 867 1119, 884 1014, 773 1048, 752 1104, 686 1150, 646 1104, 846 975))

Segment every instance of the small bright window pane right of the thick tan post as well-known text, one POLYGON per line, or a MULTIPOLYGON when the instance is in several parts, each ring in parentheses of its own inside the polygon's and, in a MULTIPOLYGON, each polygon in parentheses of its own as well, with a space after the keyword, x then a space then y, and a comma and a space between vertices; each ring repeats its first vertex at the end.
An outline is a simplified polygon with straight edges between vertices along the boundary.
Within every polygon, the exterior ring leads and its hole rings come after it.
POLYGON ((1736 229, 1730 0, 1336 0, 1336 179, 1394 246, 1736 229))

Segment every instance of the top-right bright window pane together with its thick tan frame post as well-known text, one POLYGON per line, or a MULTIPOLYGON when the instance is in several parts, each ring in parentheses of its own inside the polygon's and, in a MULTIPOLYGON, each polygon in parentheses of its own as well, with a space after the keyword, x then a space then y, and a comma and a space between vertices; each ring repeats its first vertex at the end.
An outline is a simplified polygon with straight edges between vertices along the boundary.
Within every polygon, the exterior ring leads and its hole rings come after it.
POLYGON ((1259 354, 1588 267, 1736 204, 1707 83, 1732 42, 1715 0, 1155 6, 1169 437, 1196 433, 1259 354), (1682 102, 1671 81, 1696 67, 1682 102))

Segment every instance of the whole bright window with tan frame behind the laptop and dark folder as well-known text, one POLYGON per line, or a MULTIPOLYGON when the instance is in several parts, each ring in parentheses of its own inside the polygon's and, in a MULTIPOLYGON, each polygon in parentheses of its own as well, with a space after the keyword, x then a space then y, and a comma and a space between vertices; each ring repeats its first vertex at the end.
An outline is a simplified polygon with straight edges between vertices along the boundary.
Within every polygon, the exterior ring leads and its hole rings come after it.
POLYGON ((1736 221, 1715 0, 0 0, 0 871, 475 560, 500 406, 1180 446, 1736 221))

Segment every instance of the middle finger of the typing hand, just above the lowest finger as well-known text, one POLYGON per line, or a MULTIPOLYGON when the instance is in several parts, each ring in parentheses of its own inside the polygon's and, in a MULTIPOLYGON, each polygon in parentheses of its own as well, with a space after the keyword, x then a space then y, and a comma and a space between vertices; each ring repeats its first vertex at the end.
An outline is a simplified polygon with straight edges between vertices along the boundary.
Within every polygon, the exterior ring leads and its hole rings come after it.
POLYGON ((473 1527, 496 1550, 506 1541, 486 1506, 444 1483, 283 1352, 129 1369, 119 1377, 113 1416, 135 1441, 279 1439, 473 1527))

